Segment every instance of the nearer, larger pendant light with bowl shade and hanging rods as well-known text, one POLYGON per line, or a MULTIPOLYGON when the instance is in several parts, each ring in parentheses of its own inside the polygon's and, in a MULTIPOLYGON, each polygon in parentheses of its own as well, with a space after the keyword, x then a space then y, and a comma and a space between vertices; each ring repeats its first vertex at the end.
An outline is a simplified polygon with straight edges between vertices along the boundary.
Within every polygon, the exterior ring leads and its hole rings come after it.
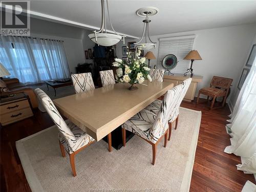
POLYGON ((124 35, 118 34, 112 25, 110 13, 109 13, 109 3, 108 0, 100 0, 101 1, 101 27, 99 31, 93 31, 93 33, 89 34, 89 38, 98 45, 101 46, 113 46, 117 44, 121 39, 124 44, 124 35), (105 9, 108 11, 108 17, 110 26, 114 33, 106 33, 106 15, 105 9))

